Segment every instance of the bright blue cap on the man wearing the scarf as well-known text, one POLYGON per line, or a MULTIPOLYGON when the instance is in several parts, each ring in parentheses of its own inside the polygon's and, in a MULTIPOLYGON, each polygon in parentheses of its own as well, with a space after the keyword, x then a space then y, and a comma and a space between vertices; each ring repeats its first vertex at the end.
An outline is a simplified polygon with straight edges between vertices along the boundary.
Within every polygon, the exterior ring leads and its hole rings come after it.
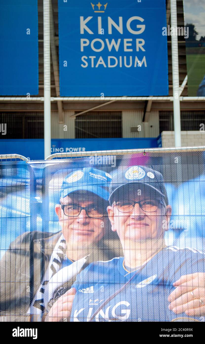
POLYGON ((62 183, 60 198, 68 196, 74 191, 86 190, 108 201, 111 175, 94 168, 73 169, 62 183))

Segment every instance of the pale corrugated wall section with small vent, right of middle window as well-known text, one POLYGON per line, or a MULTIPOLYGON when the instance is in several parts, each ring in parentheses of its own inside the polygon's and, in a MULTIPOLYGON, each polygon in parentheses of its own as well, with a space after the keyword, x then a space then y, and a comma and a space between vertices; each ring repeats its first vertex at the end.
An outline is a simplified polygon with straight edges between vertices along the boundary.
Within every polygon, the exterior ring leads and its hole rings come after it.
POLYGON ((157 137, 159 135, 159 111, 150 111, 147 122, 142 122, 143 111, 122 111, 122 137, 157 137), (131 132, 131 127, 141 125, 141 131, 131 132))

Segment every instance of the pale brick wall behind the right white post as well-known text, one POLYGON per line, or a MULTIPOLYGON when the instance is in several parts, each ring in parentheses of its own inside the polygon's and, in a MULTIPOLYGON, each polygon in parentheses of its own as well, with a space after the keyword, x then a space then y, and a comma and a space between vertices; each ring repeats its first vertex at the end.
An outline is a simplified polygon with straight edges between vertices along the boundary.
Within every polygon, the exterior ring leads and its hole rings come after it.
MULTIPOLYGON (((162 147, 174 147, 174 131, 162 131, 162 147)), ((205 132, 199 130, 181 131, 182 146, 205 146, 205 132)))

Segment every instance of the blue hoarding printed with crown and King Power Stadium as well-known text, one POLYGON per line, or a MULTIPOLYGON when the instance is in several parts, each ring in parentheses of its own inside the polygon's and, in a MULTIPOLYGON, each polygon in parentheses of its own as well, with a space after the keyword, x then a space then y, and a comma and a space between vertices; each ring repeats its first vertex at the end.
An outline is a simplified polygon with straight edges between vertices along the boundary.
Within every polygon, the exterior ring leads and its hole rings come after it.
POLYGON ((59 0, 60 95, 168 95, 165 5, 59 0))

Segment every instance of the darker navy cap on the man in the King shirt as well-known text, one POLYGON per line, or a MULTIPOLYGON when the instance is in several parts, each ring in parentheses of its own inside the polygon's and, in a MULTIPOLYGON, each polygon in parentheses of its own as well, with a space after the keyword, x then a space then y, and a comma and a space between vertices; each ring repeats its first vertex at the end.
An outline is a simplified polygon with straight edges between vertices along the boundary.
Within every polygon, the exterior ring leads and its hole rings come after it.
POLYGON ((110 204, 113 202, 113 196, 116 194, 116 191, 120 191, 124 185, 131 183, 141 184, 143 189, 146 188, 146 190, 149 189, 149 192, 155 192, 164 200, 166 205, 168 204, 167 191, 162 174, 148 166, 119 166, 112 174, 109 196, 110 204))

